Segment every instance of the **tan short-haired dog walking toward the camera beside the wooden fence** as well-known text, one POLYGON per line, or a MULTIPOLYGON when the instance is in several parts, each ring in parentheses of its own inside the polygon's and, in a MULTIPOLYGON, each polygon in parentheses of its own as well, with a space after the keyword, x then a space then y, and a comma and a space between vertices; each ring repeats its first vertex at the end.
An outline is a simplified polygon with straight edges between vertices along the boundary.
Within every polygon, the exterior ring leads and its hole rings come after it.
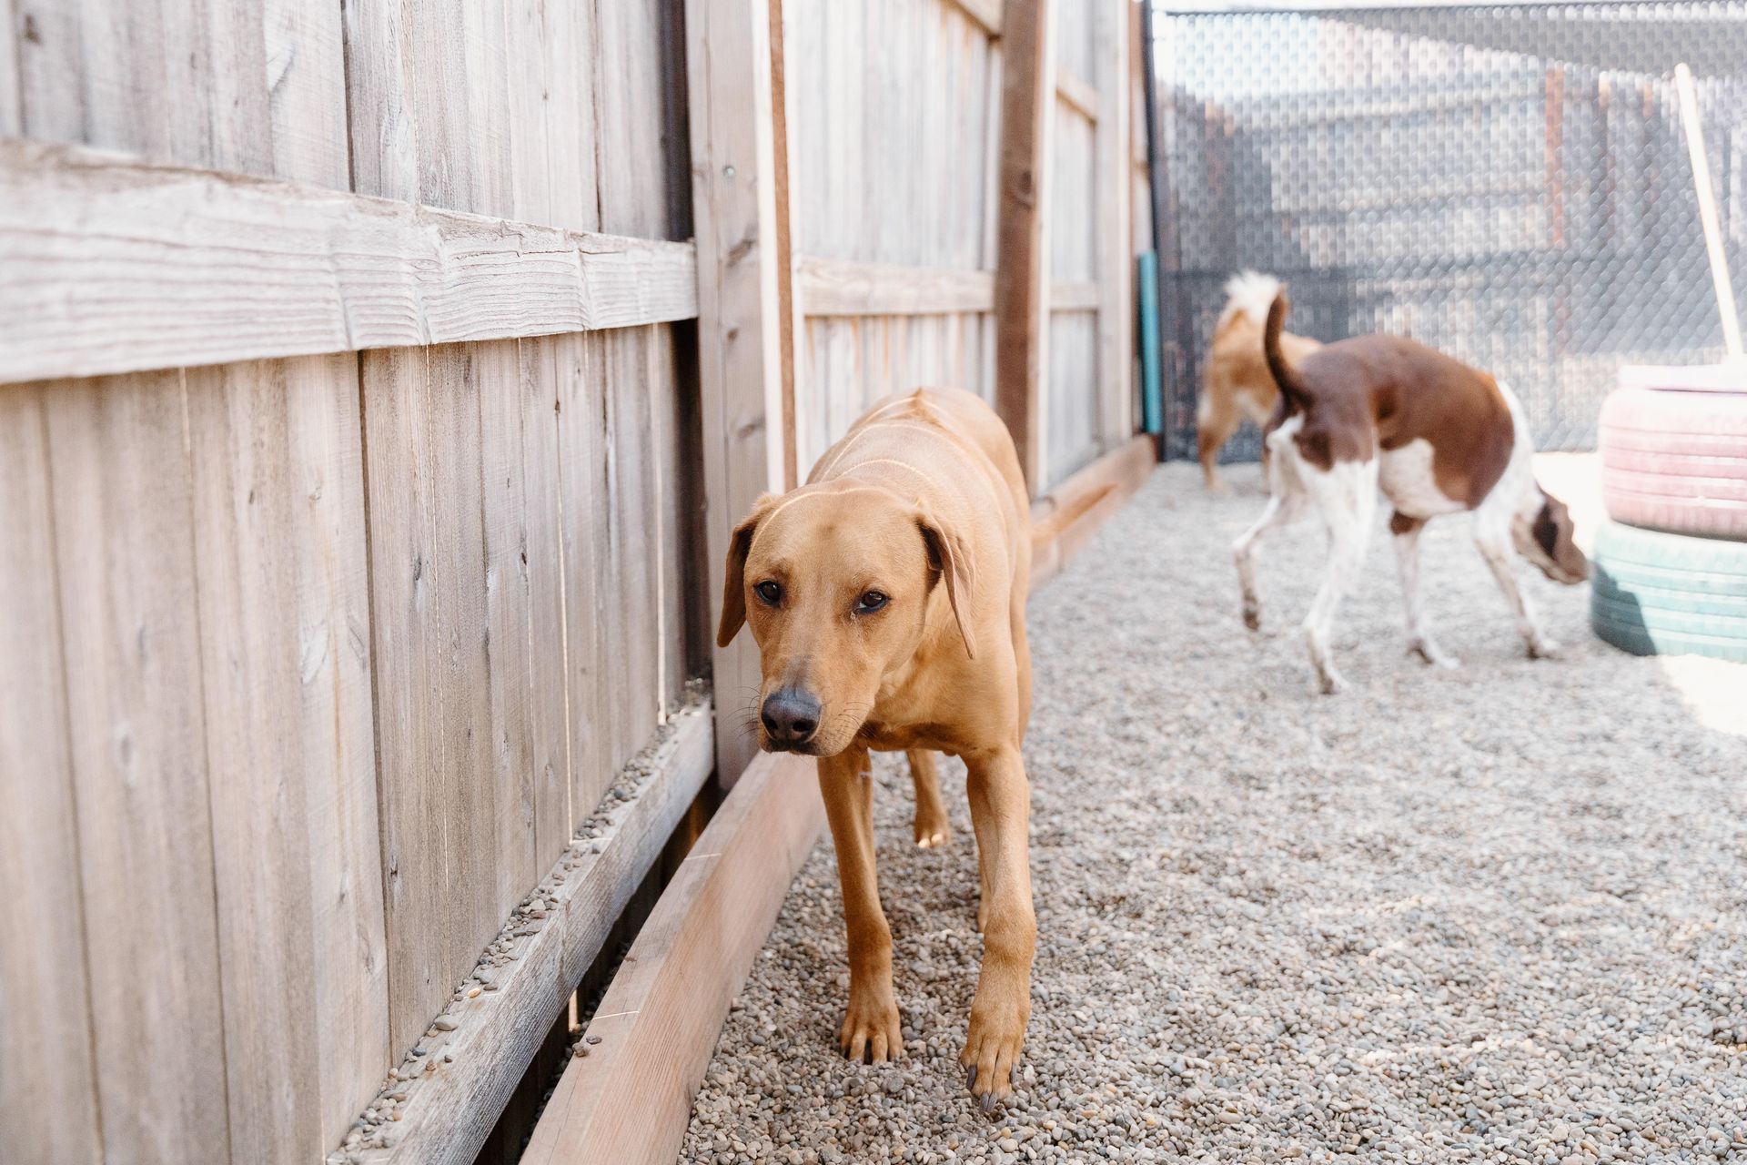
POLYGON ((964 758, 984 964, 959 1060, 984 1111, 1008 1095, 1031 1018, 1038 927, 1020 746, 1032 538, 1019 456, 982 400, 957 389, 887 398, 805 486, 765 494, 734 529, 716 636, 727 646, 746 622, 758 641, 760 748, 819 758, 849 929, 839 1043, 851 1058, 903 1050, 868 749, 908 753, 917 845, 947 840, 931 753, 964 758))

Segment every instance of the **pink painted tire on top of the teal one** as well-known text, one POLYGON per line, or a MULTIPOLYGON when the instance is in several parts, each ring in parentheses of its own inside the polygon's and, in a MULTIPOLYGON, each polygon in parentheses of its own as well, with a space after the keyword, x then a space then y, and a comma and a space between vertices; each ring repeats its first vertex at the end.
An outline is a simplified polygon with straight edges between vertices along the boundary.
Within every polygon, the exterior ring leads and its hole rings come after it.
POLYGON ((1747 393, 1614 389, 1600 451, 1616 522, 1747 540, 1747 393))

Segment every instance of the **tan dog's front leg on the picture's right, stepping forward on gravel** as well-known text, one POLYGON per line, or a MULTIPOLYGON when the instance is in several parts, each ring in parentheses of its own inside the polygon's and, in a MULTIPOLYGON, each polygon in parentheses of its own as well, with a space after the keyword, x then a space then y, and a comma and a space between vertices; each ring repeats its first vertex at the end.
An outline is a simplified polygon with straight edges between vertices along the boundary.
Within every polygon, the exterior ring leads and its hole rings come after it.
POLYGON ((1017 748, 966 755, 964 762, 985 880, 985 922, 984 964, 959 1064, 987 1113, 1012 1092, 1031 1020, 1031 957, 1038 947, 1027 854, 1031 791, 1017 748))

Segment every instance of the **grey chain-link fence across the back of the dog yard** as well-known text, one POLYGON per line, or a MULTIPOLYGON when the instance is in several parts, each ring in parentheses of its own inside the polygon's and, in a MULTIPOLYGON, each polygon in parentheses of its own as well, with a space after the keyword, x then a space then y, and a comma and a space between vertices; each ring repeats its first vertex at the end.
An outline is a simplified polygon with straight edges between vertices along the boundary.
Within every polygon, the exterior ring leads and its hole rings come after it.
MULTIPOLYGON (((1593 447, 1621 363, 1721 355, 1674 66, 1698 77, 1747 302, 1747 3, 1157 14, 1170 456, 1193 456, 1244 267, 1288 281, 1296 332, 1396 332, 1494 372, 1543 449, 1593 447)), ((1226 459, 1258 451, 1244 433, 1226 459)))

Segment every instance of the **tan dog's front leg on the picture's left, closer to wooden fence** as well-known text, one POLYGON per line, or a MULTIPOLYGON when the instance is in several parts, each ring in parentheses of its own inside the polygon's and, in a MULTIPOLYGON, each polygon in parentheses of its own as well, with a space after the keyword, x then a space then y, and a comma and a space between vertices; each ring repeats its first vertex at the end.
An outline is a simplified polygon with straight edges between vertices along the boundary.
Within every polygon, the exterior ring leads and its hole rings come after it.
POLYGON ((874 866, 874 779, 867 749, 819 758, 819 793, 837 845, 849 927, 849 1011, 837 1043, 851 1060, 882 1064, 903 1051, 898 999, 891 990, 891 926, 879 905, 874 866))

